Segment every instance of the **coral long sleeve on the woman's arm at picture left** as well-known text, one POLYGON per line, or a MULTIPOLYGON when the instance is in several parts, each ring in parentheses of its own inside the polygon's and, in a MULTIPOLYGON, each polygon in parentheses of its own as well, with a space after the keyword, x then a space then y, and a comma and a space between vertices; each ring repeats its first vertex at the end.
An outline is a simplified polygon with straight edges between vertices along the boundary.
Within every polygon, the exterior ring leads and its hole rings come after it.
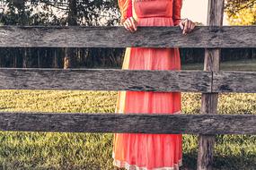
POLYGON ((118 2, 121 13, 120 22, 123 23, 128 17, 132 16, 132 0, 118 0, 118 2))

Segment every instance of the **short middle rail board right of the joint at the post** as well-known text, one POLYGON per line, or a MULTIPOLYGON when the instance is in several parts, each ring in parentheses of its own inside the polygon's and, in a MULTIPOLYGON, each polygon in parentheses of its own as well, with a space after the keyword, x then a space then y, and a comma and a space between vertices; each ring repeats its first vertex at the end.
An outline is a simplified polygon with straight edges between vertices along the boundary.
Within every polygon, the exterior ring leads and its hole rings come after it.
POLYGON ((213 72, 213 92, 256 93, 256 72, 213 72))

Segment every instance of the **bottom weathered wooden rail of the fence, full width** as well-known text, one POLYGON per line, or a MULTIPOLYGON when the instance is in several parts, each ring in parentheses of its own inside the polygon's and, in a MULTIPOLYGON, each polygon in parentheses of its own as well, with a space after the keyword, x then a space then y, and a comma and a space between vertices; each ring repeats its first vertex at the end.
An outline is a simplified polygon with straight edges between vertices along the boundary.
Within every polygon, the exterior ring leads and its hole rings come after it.
POLYGON ((256 134, 256 115, 0 113, 2 131, 256 134))

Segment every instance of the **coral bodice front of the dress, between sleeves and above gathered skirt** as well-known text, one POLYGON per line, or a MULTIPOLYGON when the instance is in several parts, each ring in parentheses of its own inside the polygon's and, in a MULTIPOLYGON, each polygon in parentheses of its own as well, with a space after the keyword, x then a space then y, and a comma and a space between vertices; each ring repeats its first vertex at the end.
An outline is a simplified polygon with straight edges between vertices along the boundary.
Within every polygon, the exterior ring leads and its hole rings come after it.
POLYGON ((134 0, 138 18, 172 17, 172 0, 134 0))

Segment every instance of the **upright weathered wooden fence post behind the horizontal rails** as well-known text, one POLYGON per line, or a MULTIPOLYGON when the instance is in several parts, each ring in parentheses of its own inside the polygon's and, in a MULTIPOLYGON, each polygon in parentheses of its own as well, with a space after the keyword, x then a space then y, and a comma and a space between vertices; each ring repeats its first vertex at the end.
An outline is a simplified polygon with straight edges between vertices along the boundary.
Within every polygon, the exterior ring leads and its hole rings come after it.
MULTIPOLYGON (((222 26, 224 0, 208 0, 207 25, 222 26)), ((205 52, 204 71, 218 72, 220 49, 207 48, 205 52)), ((217 93, 203 93, 201 98, 201 114, 216 114, 217 93)), ((198 170, 211 170, 215 135, 199 135, 198 170)))

